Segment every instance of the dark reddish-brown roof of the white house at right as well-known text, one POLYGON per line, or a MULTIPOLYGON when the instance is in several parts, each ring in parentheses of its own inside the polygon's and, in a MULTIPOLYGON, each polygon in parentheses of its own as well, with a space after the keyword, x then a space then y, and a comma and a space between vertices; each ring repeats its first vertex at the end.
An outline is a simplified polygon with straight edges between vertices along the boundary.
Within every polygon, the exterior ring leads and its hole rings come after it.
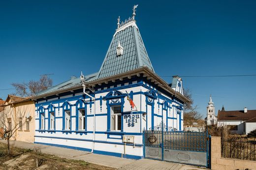
POLYGON ((244 111, 219 111, 217 118, 218 120, 248 120, 254 122, 256 121, 256 110, 248 110, 247 113, 244 113, 244 111))

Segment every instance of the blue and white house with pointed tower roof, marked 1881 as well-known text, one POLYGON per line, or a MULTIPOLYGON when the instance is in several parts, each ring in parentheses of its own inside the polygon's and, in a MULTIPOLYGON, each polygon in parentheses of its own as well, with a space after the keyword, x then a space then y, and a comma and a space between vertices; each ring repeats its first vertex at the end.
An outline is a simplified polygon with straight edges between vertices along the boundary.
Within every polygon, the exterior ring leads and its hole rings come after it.
POLYGON ((188 99, 182 79, 174 76, 168 84, 155 73, 135 8, 132 18, 118 19, 98 72, 73 76, 34 96, 35 143, 140 159, 143 130, 183 131, 188 99))

